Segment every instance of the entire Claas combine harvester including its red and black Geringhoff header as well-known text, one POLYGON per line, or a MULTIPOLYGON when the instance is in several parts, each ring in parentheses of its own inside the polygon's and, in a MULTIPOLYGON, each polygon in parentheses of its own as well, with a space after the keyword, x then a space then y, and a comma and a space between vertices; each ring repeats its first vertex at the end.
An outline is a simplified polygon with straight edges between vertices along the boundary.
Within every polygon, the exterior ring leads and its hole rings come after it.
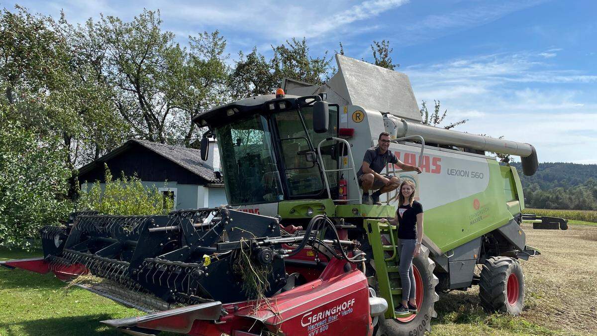
POLYGON ((479 285, 488 311, 521 313, 518 259, 538 251, 520 227, 518 173, 485 152, 518 155, 537 169, 527 143, 421 123, 406 75, 336 55, 320 86, 284 81, 198 115, 202 139, 219 145, 229 206, 168 216, 75 213, 42 229, 44 258, 4 262, 68 280, 148 314, 104 323, 133 335, 420 335, 436 316, 437 292, 479 285), (419 311, 396 318, 400 297, 396 193, 361 204, 355 171, 381 132, 420 175, 422 251, 414 259, 419 311), (483 265, 480 276, 476 265, 483 265))

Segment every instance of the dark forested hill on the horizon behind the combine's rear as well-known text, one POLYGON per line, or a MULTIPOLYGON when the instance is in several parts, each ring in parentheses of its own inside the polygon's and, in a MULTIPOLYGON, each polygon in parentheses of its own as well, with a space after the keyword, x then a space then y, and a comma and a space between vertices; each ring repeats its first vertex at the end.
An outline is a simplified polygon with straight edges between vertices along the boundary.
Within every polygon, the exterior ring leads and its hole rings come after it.
POLYGON ((540 163, 533 176, 519 172, 527 207, 597 210, 597 164, 540 163))

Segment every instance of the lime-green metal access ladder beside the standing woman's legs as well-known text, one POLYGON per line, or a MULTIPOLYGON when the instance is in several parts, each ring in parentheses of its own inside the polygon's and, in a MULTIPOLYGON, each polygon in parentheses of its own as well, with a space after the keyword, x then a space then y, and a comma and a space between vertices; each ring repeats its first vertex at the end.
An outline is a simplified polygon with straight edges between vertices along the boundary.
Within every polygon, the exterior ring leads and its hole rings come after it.
POLYGON ((396 225, 381 223, 377 219, 368 219, 365 225, 373 249, 378 292, 387 301, 386 319, 393 319, 396 317, 394 311, 402 301, 398 230, 396 225), (382 235, 387 236, 389 244, 384 244, 382 235))

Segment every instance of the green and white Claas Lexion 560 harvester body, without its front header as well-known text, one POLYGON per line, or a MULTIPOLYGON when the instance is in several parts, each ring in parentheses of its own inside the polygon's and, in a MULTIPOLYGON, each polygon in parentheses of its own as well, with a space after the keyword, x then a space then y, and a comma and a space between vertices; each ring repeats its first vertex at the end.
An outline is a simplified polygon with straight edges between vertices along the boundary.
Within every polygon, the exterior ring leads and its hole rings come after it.
MULTIPOLYGON (((436 316, 437 292, 473 285, 486 310, 521 313, 518 260, 539 252, 525 245, 520 227, 518 172, 485 152, 519 156, 525 175, 533 175, 533 146, 426 126, 407 75, 339 54, 336 60, 338 72, 324 85, 285 79, 285 94, 238 100, 194 119, 209 129, 205 158, 208 137, 217 139, 230 205, 277 216, 284 227, 305 227, 313 216, 326 215, 347 228, 347 239, 367 253, 370 286, 389 306, 378 335, 423 334, 436 316), (395 215, 398 190, 381 197, 384 205, 361 204, 356 181, 365 151, 381 132, 390 133, 389 150, 399 160, 423 170, 417 175, 389 164, 382 172, 413 181, 424 207, 424 247, 414 259, 420 311, 403 318, 394 314, 401 298, 396 227, 379 221, 395 215)), ((312 265, 312 274, 303 268, 304 280, 316 276, 321 261, 313 253, 294 259, 312 265)))

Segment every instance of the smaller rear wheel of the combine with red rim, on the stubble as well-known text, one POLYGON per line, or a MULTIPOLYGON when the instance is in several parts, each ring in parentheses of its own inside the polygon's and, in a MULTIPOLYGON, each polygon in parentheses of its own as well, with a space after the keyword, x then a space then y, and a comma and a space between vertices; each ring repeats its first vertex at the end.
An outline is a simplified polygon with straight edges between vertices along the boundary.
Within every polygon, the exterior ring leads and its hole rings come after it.
POLYGON ((524 287, 524 274, 518 261, 506 256, 488 258, 479 281, 481 306, 488 312, 518 315, 524 306, 524 287))

